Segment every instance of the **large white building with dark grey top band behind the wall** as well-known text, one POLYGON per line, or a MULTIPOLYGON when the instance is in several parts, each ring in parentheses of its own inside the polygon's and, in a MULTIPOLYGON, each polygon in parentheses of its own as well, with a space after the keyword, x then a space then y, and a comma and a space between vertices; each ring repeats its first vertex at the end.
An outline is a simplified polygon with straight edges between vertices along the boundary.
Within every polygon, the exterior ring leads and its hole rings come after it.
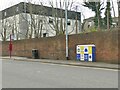
MULTIPOLYGON (((14 40, 65 34, 65 10, 21 2, 2 12, 2 40, 12 34, 14 40)), ((81 13, 68 11, 68 33, 81 31, 81 13)))

